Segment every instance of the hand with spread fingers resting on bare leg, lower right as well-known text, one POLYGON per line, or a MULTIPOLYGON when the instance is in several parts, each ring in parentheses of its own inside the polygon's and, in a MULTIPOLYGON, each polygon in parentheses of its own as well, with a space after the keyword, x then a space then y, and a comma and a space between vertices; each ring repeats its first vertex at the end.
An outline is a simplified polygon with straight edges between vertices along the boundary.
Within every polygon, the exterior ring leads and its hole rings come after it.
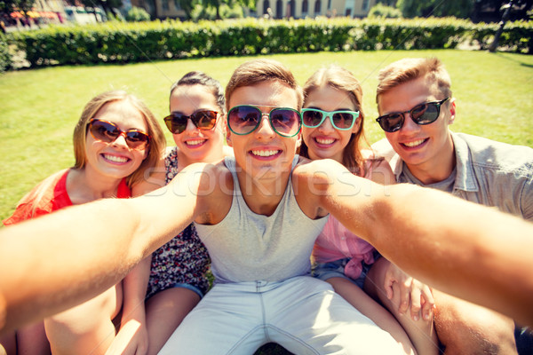
POLYGON ((394 295, 394 288, 399 294, 400 302, 398 312, 404 314, 410 310, 410 316, 413 320, 418 320, 420 314, 425 320, 432 319, 434 316, 434 297, 426 284, 419 280, 413 279, 407 273, 403 272, 398 266, 390 263, 385 273, 386 296, 393 300, 398 298, 394 295), (397 287, 394 287, 396 284, 397 287))

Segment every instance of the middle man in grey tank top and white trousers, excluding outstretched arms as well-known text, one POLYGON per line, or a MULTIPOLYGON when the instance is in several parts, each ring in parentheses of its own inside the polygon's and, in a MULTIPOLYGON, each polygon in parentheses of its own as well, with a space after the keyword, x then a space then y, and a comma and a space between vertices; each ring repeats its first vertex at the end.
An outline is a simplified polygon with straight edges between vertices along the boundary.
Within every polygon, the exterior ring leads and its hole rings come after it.
POLYGON ((227 142, 217 201, 195 219, 215 285, 160 354, 254 353, 274 342, 295 354, 402 354, 394 338, 309 274, 328 214, 295 191, 302 94, 278 62, 235 70, 226 90, 227 142))

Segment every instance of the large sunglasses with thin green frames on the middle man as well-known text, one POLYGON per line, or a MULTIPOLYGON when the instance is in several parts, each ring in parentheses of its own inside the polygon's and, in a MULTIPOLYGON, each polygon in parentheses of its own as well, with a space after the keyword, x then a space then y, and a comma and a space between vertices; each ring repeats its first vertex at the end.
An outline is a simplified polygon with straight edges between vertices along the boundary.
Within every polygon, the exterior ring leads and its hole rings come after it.
MULTIPOLYGON (((250 134, 259 127, 263 113, 259 107, 240 105, 232 107, 227 113, 229 130, 240 136, 250 134)), ((270 127, 282 137, 294 137, 302 127, 300 113, 288 107, 274 107, 268 113, 270 127)))

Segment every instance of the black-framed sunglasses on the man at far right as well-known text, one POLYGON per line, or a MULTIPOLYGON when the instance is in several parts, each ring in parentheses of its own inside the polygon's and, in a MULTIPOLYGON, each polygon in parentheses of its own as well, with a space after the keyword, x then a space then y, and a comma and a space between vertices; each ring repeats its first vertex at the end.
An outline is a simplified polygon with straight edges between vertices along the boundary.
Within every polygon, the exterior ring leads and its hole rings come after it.
POLYGON ((405 122, 405 114, 410 114, 411 120, 417 124, 429 124, 435 122, 441 114, 441 106, 449 98, 441 101, 425 102, 423 104, 414 106, 409 111, 394 112, 392 114, 384 114, 379 116, 376 121, 386 132, 395 132, 400 130, 405 122))

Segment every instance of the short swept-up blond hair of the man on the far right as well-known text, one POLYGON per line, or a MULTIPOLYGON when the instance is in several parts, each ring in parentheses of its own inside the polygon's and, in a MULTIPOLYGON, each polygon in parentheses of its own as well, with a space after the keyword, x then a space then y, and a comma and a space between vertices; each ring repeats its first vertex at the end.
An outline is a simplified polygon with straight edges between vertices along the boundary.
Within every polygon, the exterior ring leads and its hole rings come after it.
POLYGON ((451 98, 451 79, 441 60, 437 58, 407 58, 389 64, 379 72, 376 102, 379 104, 379 95, 419 77, 430 79, 436 85, 437 90, 442 92, 444 96, 442 99, 451 98))

